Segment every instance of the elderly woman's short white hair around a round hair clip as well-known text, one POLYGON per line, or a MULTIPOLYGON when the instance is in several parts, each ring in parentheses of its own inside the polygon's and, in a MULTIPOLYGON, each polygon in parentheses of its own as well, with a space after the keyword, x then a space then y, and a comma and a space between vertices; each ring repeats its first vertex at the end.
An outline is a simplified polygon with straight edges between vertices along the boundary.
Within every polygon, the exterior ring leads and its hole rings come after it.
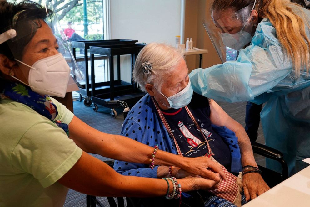
POLYGON ((184 60, 183 49, 162 43, 147 44, 138 54, 133 70, 133 80, 140 85, 143 92, 147 92, 145 89, 147 83, 153 84, 160 91, 165 77, 180 65, 181 60, 184 60), (142 64, 144 62, 152 64, 150 74, 143 73, 142 64))

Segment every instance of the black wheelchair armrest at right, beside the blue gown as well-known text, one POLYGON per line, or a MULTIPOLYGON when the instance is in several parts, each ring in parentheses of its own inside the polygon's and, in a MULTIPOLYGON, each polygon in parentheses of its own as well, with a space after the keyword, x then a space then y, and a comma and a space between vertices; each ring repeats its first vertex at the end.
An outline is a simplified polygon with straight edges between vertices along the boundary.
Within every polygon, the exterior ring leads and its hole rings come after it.
POLYGON ((288 177, 288 167, 283 159, 283 154, 280 151, 257 142, 251 142, 251 144, 253 153, 278 161, 282 165, 283 178, 288 177))

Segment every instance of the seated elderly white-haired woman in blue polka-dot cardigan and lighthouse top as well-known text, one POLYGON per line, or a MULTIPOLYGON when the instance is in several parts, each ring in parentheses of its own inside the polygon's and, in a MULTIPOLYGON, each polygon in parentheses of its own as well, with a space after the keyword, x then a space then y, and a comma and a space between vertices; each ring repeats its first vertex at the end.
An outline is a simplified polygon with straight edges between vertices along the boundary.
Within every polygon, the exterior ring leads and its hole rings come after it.
MULTIPOLYGON (((148 94, 128 113, 121 135, 181 156, 216 160, 227 180, 209 191, 218 196, 212 199, 241 205, 242 198, 254 199, 269 189, 244 128, 215 101, 193 92, 183 50, 166 44, 146 45, 137 57, 133 78, 148 94)), ((123 175, 150 178, 195 176, 174 166, 122 161, 116 161, 114 169, 123 175)))

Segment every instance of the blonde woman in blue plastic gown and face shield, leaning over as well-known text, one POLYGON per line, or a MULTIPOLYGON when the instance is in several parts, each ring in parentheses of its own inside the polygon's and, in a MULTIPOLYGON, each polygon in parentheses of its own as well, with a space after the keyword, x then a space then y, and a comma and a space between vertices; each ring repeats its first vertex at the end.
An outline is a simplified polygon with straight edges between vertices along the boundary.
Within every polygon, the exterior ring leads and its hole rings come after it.
MULTIPOLYGON (((194 91, 218 101, 267 101, 260 114, 266 145, 284 154, 290 175, 298 172, 310 157, 310 11, 287 0, 214 0, 211 10, 209 36, 239 55, 193 70, 194 91)), ((267 167, 282 171, 271 160, 267 167)))

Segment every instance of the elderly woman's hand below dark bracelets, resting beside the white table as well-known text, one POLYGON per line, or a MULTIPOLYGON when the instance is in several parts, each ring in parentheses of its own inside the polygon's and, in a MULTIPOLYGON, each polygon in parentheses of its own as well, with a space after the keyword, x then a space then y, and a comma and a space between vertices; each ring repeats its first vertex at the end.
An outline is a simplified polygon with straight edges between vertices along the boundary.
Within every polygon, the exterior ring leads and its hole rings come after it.
POLYGON ((256 198, 270 189, 259 173, 247 173, 243 175, 242 186, 247 201, 256 198))

